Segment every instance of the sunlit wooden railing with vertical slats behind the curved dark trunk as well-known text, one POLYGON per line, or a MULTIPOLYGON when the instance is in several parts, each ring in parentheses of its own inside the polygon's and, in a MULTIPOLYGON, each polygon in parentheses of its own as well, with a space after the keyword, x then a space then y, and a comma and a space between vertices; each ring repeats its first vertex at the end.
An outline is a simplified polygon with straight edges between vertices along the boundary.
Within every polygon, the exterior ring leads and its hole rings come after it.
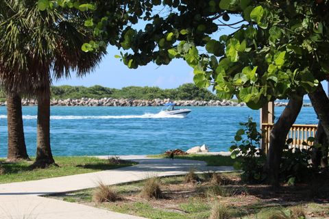
MULTIPOLYGON (((262 138, 262 149, 265 150, 267 153, 269 149, 269 138, 271 135, 271 131, 273 128, 273 124, 263 123, 262 124, 262 131, 263 131, 263 138, 262 138)), ((309 137, 315 137, 315 133, 317 132, 317 125, 293 125, 291 127, 287 139, 292 138, 293 142, 291 142, 290 146, 293 148, 300 148, 306 149, 307 146, 303 145, 303 142, 307 142, 309 137)), ((308 144, 312 144, 308 142, 308 144)))

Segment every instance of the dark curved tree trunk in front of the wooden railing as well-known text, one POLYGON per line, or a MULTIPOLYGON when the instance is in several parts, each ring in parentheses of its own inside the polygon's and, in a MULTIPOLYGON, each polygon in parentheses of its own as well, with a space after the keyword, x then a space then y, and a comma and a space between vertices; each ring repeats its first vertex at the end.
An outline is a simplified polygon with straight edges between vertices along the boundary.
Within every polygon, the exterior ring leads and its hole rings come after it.
POLYGON ((291 99, 284 108, 280 118, 274 124, 269 140, 269 153, 267 155, 266 171, 269 183, 274 187, 279 186, 279 172, 282 151, 287 140, 287 135, 293 123, 300 114, 303 100, 291 99))

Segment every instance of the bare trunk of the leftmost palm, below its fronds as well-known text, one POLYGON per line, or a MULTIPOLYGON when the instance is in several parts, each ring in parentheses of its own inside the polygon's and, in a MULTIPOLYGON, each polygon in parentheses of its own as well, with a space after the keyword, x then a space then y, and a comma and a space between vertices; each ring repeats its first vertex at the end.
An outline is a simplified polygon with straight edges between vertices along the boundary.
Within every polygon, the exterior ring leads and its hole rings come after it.
POLYGON ((7 120, 8 120, 8 155, 7 160, 10 162, 29 159, 27 155, 21 96, 16 93, 7 95, 7 120))

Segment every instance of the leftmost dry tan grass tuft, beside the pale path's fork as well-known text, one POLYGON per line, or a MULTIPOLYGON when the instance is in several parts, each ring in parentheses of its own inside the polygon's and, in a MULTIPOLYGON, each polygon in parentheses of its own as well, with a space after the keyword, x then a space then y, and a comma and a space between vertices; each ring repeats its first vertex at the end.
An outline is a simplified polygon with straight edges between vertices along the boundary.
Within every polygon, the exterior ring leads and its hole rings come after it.
POLYGON ((120 196, 113 188, 103 183, 99 183, 98 188, 93 194, 93 201, 96 203, 114 202, 120 200, 120 196))

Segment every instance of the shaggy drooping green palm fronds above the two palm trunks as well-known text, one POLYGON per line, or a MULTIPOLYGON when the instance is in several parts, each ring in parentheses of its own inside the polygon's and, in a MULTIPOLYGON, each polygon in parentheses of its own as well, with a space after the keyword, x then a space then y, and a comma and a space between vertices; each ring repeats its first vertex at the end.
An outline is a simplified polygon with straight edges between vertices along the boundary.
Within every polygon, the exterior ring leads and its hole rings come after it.
POLYGON ((42 12, 32 0, 0 4, 5 5, 0 9, 0 83, 8 92, 35 95, 47 90, 52 77, 71 77, 72 72, 82 77, 106 54, 81 50, 93 38, 81 12, 42 12))

